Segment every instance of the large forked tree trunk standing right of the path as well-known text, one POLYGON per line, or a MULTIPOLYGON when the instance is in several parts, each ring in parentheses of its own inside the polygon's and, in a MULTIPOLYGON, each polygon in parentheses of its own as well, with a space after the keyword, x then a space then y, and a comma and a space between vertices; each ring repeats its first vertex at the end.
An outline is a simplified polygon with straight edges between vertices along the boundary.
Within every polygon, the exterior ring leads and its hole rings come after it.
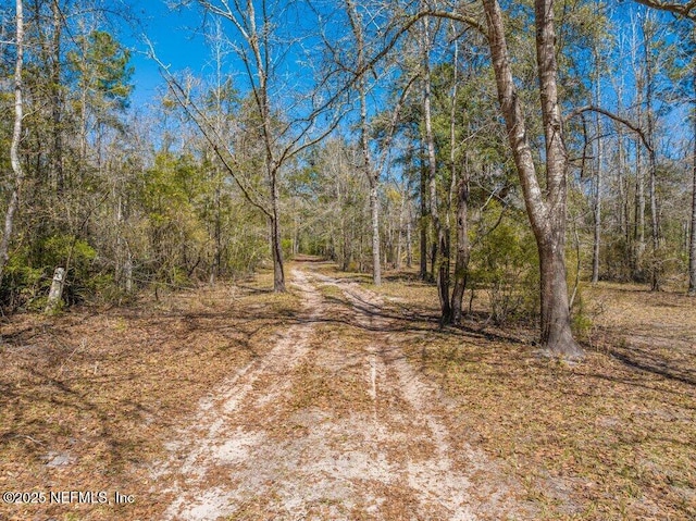
POLYGON ((505 37, 502 13, 497 0, 483 0, 488 25, 488 45, 496 75, 498 99, 508 139, 522 185, 527 215, 540 260, 540 342, 546 352, 563 358, 582 358, 573 339, 566 282, 566 170, 568 158, 562 138, 562 119, 556 84, 552 0, 535 1, 536 50, 539 95, 546 141, 546 189, 542 190, 526 137, 522 108, 515 91, 505 37))

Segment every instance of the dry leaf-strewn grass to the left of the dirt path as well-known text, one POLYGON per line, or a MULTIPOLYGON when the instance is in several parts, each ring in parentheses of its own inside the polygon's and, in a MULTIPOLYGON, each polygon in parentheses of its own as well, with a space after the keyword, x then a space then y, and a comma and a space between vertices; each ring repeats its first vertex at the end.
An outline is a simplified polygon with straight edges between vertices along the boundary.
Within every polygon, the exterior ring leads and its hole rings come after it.
POLYGON ((0 492, 117 491, 136 503, 0 504, 0 519, 158 519, 164 505, 151 466, 165 455, 164 442, 294 320, 297 296, 269 287, 266 273, 130 308, 5 320, 0 492))

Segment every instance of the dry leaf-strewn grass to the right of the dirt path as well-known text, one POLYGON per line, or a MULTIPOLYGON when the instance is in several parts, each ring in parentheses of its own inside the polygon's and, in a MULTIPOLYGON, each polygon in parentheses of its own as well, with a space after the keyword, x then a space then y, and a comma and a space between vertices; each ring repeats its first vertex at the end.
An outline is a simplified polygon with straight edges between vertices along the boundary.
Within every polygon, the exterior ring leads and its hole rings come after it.
POLYGON ((696 519, 693 299, 585 291, 592 344, 569 365, 536 358, 522 326, 438 328, 435 288, 410 275, 380 291, 396 298, 412 363, 455 399, 472 442, 524 484, 538 518, 696 519))

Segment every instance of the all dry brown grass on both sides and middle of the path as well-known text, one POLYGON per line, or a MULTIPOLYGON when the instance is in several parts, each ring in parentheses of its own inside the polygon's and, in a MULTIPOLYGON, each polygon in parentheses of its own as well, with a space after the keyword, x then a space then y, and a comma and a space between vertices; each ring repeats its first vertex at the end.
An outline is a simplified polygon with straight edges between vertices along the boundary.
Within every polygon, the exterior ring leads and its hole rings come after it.
MULTIPOLYGON (((412 274, 387 274, 374 288, 369 275, 313 269, 385 296, 385 333, 448 396, 453 432, 523 484, 519 499, 536 512, 529 519, 696 519, 692 299, 620 285, 586 290, 588 356, 568 365, 534 356, 534 331, 485 324, 483 299, 464 327, 440 330, 435 288, 412 274)), ((163 484, 151 470, 166 457, 164 442, 203 396, 297 320, 298 297, 273 295, 271 286, 265 273, 130 308, 5 320, 0 492, 119 491, 136 503, 0 504, 0 519, 159 519, 163 484)), ((320 290, 331 317, 318 325, 321 345, 312 348, 363 343, 368 333, 346 322, 337 288, 320 290)), ((333 367, 330 351, 322 360, 295 370, 288 410, 340 415, 371 407, 358 361, 333 367)), ((238 519, 259 519, 268 498, 259 501, 238 519)), ((360 512, 357 506, 353 517, 360 512)))

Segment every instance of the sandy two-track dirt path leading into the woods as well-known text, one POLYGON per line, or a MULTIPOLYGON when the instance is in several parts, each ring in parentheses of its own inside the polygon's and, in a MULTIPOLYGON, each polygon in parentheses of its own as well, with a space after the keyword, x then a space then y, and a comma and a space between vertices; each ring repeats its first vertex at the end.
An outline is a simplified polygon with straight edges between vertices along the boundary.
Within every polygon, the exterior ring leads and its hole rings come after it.
POLYGON ((380 297, 294 270, 300 320, 238 371, 170 444, 157 483, 165 519, 501 517, 504 485, 482 503, 484 456, 452 435, 438 393, 398 347, 380 297), (325 291, 338 297, 324 297, 325 291))

